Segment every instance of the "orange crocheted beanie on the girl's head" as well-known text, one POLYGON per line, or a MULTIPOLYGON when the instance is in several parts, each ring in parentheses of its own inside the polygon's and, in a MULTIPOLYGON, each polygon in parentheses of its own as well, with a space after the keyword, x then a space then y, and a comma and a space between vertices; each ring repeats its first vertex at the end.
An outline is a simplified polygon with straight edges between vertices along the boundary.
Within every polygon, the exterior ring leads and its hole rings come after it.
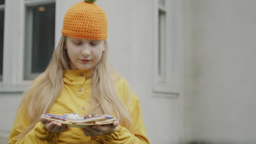
POLYGON ((63 35, 77 39, 107 39, 107 16, 93 2, 95 0, 84 0, 69 8, 63 20, 63 35))

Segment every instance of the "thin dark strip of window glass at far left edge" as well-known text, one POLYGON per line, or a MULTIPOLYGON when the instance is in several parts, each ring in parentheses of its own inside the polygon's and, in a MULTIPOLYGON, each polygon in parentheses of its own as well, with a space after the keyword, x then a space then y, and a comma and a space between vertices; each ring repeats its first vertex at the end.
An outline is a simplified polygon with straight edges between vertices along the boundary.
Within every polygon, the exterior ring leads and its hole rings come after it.
POLYGON ((3 80, 4 0, 0 0, 0 81, 3 80))

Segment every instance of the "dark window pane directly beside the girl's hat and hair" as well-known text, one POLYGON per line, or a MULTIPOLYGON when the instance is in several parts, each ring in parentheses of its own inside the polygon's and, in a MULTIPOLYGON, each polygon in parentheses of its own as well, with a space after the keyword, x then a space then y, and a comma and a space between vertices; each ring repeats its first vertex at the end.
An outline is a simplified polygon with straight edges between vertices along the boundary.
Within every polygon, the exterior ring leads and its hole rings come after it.
POLYGON ((54 51, 55 3, 27 7, 25 80, 33 80, 48 66, 54 51))

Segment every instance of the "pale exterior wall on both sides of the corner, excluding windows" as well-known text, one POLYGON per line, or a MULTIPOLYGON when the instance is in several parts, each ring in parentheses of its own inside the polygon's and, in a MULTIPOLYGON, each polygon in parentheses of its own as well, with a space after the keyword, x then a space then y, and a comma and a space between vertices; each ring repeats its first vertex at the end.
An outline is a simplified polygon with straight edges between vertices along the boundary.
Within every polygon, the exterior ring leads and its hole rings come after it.
MULTIPOLYGON (((56 0, 56 41, 75 2, 56 0)), ((141 100, 150 142, 256 143, 256 1, 180 2, 181 82, 173 98, 152 90, 154 1, 97 2, 108 16, 110 62, 141 100)), ((20 100, 21 92, 0 91, 0 143, 7 143, 20 100)))

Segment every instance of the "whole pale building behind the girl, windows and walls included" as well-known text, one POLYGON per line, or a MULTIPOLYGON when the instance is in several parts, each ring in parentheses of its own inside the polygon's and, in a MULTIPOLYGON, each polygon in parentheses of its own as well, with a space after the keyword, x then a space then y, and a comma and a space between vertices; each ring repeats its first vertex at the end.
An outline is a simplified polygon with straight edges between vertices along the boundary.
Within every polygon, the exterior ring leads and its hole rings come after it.
MULTIPOLYGON (((78 0, 0 0, 0 143, 78 0)), ((256 1, 98 0, 151 143, 256 143, 256 1)))

